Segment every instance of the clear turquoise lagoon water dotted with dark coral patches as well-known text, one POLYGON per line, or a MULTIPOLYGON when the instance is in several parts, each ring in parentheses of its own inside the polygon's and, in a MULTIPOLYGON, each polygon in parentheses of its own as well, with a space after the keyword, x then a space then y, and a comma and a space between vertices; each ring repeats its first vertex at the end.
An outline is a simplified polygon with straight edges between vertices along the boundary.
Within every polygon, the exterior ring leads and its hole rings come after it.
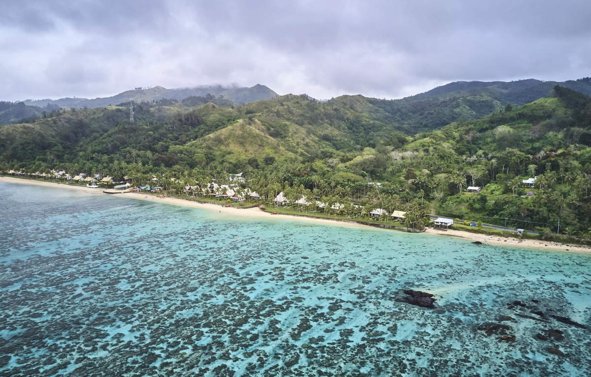
POLYGON ((0 241, 0 375, 591 375, 589 255, 7 183, 0 241))

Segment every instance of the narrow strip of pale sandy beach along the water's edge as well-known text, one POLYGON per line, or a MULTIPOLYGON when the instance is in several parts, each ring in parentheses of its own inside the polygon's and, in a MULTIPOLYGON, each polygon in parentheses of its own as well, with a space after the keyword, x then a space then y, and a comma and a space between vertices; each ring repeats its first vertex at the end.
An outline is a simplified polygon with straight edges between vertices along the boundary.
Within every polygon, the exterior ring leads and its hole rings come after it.
MULTIPOLYGON (((320 225, 339 225, 339 226, 350 226, 353 228, 362 228, 368 229, 373 228, 375 226, 371 225, 363 225, 360 223, 355 222, 346 222, 346 221, 338 221, 332 219, 320 219, 310 216, 293 216, 293 215, 271 215, 269 212, 261 211, 260 209, 253 207, 248 209, 238 209, 235 207, 224 207, 218 204, 210 204, 210 203, 199 203, 194 202, 193 200, 186 200, 186 199, 179 199, 177 197, 162 197, 162 196, 155 196, 154 194, 147 194, 147 193, 122 193, 122 194, 105 194, 102 192, 102 189, 90 189, 89 187, 83 186, 74 186, 69 185, 66 183, 57 183, 57 182, 46 182, 46 181, 38 181, 38 180, 31 180, 27 178, 16 178, 16 177, 0 177, 0 182, 5 183, 15 183, 15 184, 28 184, 30 186, 41 186, 41 187, 53 187, 53 188, 62 188, 62 189, 70 189, 70 190, 78 190, 83 191, 85 193, 93 193, 93 194, 102 194, 102 195, 115 195, 115 196, 124 196, 130 197, 132 199, 138 200, 147 200, 148 202, 158 202, 158 203, 165 203, 171 204, 174 206, 180 207, 193 207, 193 208, 201 208, 201 209, 208 209, 208 210, 217 210, 220 213, 226 213, 233 216, 241 216, 241 217, 249 217, 251 219, 256 218, 274 218, 274 217, 281 217, 282 219, 291 219, 296 220, 299 222, 308 222, 308 223, 316 223, 320 225)), ((378 228, 383 229, 383 228, 378 228)), ((387 230, 387 229, 384 229, 387 230)), ((399 230, 400 231, 400 230, 399 230)), ((455 230, 449 229, 447 231, 444 230, 436 230, 433 228, 427 228, 426 233, 430 235, 439 235, 439 236, 451 236, 457 238, 464 238, 469 241, 479 241, 482 242, 484 245, 495 245, 495 246, 509 246, 509 247, 516 247, 516 248, 527 248, 527 249, 537 249, 537 250, 546 250, 546 251, 562 251, 562 252, 574 252, 574 253, 581 253, 581 254, 591 254, 591 248, 582 245, 567 245, 563 243, 556 243, 551 241, 538 241, 532 239, 518 239, 518 238, 501 238, 500 236, 492 236, 492 235, 485 235, 480 233, 470 233, 465 232, 463 230, 455 230)))

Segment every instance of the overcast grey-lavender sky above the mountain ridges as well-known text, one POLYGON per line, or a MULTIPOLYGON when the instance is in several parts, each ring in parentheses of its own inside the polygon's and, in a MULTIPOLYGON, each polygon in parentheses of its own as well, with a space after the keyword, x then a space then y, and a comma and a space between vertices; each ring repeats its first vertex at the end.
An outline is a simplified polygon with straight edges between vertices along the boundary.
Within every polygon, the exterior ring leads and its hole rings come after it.
POLYGON ((401 98, 591 76, 586 1, 0 0, 0 100, 267 85, 401 98))

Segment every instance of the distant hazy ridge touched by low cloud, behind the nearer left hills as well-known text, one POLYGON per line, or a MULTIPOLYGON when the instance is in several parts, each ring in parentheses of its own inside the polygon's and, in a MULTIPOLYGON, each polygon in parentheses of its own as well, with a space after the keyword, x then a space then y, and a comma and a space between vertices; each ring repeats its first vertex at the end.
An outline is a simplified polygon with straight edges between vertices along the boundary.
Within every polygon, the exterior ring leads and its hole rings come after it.
POLYGON ((75 109, 92 109, 111 105, 118 105, 119 103, 134 100, 135 102, 151 102, 159 99, 177 99, 183 100, 191 96, 206 96, 213 95, 223 99, 230 100, 238 105, 242 103, 256 102, 265 99, 277 97, 277 93, 273 92, 267 86, 257 84, 252 87, 228 87, 221 85, 208 85, 187 87, 179 89, 167 89, 162 86, 155 86, 151 88, 138 88, 134 90, 127 90, 118 95, 106 98, 61 98, 57 100, 40 99, 40 100, 25 100, 25 105, 44 107, 47 105, 59 106, 60 108, 75 108, 75 109))

